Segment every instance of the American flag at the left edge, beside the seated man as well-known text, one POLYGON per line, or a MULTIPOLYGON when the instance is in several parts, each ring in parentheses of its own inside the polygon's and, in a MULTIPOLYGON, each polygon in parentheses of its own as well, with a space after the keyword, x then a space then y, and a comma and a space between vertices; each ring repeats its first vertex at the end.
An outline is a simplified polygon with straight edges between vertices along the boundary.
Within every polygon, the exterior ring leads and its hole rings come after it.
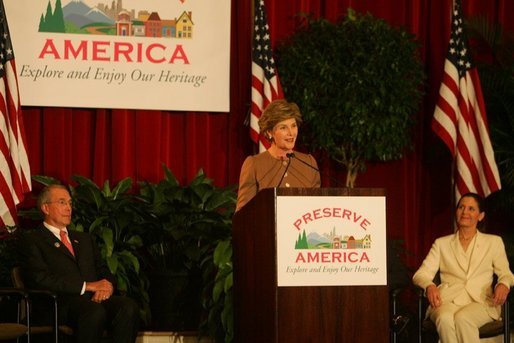
POLYGON ((3 0, 0 0, 0 220, 16 224, 16 205, 31 190, 18 79, 3 0))

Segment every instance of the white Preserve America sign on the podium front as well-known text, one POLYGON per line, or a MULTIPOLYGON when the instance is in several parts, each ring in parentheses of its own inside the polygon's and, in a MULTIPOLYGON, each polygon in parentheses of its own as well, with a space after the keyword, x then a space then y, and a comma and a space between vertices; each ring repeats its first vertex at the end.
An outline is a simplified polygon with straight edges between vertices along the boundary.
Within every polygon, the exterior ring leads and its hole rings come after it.
POLYGON ((277 286, 387 284, 383 196, 277 196, 277 286))

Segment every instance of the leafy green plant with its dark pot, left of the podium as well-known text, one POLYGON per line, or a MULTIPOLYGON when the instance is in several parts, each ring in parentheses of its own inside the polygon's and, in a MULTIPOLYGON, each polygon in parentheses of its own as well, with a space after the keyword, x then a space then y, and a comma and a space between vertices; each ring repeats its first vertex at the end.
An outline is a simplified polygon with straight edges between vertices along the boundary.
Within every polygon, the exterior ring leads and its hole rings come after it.
POLYGON ((141 183, 139 194, 152 218, 143 234, 151 291, 163 289, 158 282, 168 285, 153 307, 163 318, 154 321, 161 328, 184 330, 197 329, 202 320, 203 333, 224 336, 231 328, 225 330, 220 323, 229 325, 227 318, 232 316, 224 304, 232 301, 227 280, 231 279, 234 189, 214 186, 202 170, 189 184, 180 185, 167 167, 163 169, 164 179, 158 184, 141 183), (220 284, 226 286, 223 291, 220 284), (166 298, 169 306, 163 304, 166 298))

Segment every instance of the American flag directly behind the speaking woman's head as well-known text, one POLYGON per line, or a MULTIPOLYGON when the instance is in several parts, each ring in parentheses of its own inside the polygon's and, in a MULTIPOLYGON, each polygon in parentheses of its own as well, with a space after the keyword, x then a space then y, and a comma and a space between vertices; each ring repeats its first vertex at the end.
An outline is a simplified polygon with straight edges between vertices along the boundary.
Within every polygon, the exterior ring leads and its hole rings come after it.
POLYGON ((259 118, 266 106, 284 97, 278 79, 264 0, 254 0, 255 18, 252 46, 252 108, 250 113, 250 138, 259 143, 259 151, 269 146, 259 135, 259 118))

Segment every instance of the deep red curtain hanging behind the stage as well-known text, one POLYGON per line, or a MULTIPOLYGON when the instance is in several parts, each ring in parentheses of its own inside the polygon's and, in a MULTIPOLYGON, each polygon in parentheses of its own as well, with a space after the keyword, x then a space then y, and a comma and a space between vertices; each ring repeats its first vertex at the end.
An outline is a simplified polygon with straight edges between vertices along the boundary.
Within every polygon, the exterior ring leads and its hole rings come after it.
MULTIPOLYGON (((462 2, 466 17, 485 15, 513 29, 508 15, 514 13, 514 1, 462 2)), ((451 158, 429 125, 443 73, 451 6, 451 0, 266 0, 274 44, 294 32, 296 14, 337 20, 348 7, 405 27, 421 41, 428 79, 415 149, 400 161, 370 164, 357 178, 358 187, 386 189, 388 236, 405 241, 413 265, 435 237, 452 230, 451 158)), ((24 107, 32 174, 63 182, 79 174, 99 185, 125 177, 157 182, 165 164, 183 183, 202 168, 218 186, 236 184, 244 158, 254 153, 244 125, 250 107, 251 28, 251 0, 232 0, 229 113, 96 109, 94 99, 91 109, 24 107)), ((334 178, 343 182, 340 166, 323 156, 319 163, 323 186, 339 186, 334 178)))

